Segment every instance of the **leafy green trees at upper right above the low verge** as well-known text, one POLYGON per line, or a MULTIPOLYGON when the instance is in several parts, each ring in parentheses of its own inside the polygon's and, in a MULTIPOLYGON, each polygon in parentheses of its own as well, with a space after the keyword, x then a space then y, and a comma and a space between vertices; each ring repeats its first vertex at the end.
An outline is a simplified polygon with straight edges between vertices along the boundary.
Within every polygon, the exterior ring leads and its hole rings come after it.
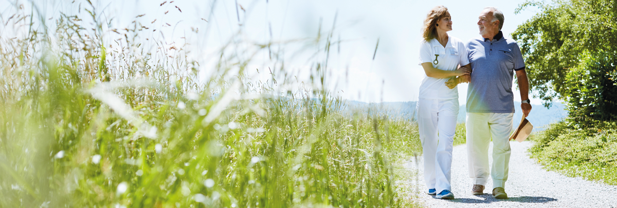
MULTIPOLYGON (((576 108, 585 106, 586 111, 609 113, 606 110, 613 104, 605 102, 610 100, 597 98, 582 104, 576 102, 587 99, 581 96, 615 94, 615 87, 606 86, 615 76, 602 73, 615 74, 615 66, 611 63, 615 63, 614 57, 617 54, 617 2, 570 0, 544 4, 528 1, 517 10, 530 6, 538 7, 540 12, 519 25, 512 33, 512 38, 520 44, 532 90, 538 92, 545 106, 549 106, 553 99, 561 98, 576 108), (598 63, 589 64, 588 57, 594 57, 598 63), (574 78, 576 74, 586 76, 581 79, 602 80, 596 83, 582 82, 574 78), (578 82, 586 86, 580 86, 578 82), (574 86, 579 86, 581 90, 594 89, 597 86, 593 84, 604 85, 604 88, 589 93, 571 90, 574 86)), ((612 95, 603 95, 607 96, 612 95)), ((593 118, 611 119, 613 116, 593 118)))

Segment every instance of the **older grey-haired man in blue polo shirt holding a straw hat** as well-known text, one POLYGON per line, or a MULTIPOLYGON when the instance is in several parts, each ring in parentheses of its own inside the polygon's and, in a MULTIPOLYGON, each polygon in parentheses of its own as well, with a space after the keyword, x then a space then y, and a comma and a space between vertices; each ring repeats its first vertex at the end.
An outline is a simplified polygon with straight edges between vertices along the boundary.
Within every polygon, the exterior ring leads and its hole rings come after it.
MULTIPOLYGON (((478 28, 482 37, 471 39, 467 44, 467 54, 471 62, 471 78, 467 89, 467 153, 469 175, 473 180, 474 195, 484 194, 484 185, 489 177, 489 143, 493 141, 493 180, 494 198, 507 199, 503 189, 508 180, 510 162, 510 143, 514 114, 514 95, 512 93, 513 74, 516 73, 518 88, 521 91, 521 109, 524 116, 531 111, 528 91, 529 82, 521 50, 516 41, 505 38, 501 30, 503 13, 494 7, 486 7, 478 18, 478 28)), ((447 82, 452 86, 452 82, 447 82)))

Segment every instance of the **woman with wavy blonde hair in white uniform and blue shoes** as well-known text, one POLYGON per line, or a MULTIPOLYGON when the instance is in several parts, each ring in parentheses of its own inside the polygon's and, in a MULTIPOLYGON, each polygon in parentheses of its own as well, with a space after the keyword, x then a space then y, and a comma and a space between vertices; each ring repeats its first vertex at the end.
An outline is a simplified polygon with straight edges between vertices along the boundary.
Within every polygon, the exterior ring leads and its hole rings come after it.
MULTIPOLYGON (((454 199, 450 186, 452 143, 457 126, 458 89, 449 89, 449 78, 470 74, 465 44, 446 32, 452 30, 450 12, 444 6, 426 15, 420 45, 420 64, 426 76, 418 96, 418 127, 424 154, 424 180, 428 194, 454 199), (458 66, 463 66, 458 68, 458 66)), ((466 80, 465 80, 466 81, 466 80)))

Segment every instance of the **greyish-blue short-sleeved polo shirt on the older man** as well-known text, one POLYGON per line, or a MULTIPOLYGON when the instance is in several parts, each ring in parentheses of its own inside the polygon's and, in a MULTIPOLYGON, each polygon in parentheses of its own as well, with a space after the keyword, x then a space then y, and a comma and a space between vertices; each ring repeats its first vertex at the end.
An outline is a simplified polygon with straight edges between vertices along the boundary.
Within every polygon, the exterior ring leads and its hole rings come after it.
POLYGON ((525 63, 516 41, 499 31, 492 41, 471 39, 467 44, 471 81, 467 88, 468 113, 514 113, 512 79, 525 63))

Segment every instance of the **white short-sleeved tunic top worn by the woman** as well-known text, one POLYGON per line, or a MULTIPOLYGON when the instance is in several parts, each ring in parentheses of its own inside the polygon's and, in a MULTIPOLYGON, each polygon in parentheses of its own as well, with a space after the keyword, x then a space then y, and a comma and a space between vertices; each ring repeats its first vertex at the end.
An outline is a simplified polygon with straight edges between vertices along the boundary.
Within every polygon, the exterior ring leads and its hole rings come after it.
MULTIPOLYGON (((418 65, 422 65, 422 63, 426 62, 433 64, 434 68, 440 70, 457 70, 458 65, 468 65, 469 59, 467 58, 465 44, 460 39, 449 36, 448 43, 445 44, 445 47, 442 46, 437 39, 431 39, 429 42, 422 40, 420 44, 420 62, 418 65), (437 61, 439 61, 437 64, 434 63, 436 58, 435 55, 439 55, 437 56, 437 61)), ((420 85, 420 94, 418 98, 439 100, 458 99, 458 88, 454 87, 454 89, 449 89, 445 86, 446 81, 448 81, 447 78, 431 78, 424 73, 424 79, 422 79, 422 84, 420 85)))

